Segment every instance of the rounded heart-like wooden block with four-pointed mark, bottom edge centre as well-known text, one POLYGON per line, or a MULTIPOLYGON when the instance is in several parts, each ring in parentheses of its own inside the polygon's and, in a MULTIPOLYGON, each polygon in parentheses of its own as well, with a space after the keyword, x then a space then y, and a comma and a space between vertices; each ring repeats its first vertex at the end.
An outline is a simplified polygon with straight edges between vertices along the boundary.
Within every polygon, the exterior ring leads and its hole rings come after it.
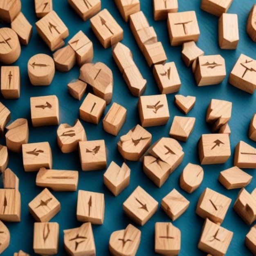
POLYGON ((129 224, 126 229, 114 231, 109 239, 112 255, 135 256, 139 248, 141 231, 129 224))

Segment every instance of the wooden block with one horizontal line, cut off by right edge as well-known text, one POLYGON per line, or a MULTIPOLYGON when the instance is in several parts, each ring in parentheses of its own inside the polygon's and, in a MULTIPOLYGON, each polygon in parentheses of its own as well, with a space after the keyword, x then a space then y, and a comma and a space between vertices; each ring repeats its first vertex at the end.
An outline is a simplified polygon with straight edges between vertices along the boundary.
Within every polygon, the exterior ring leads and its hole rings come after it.
POLYGON ((256 148, 244 141, 239 141, 235 149, 234 166, 249 169, 256 168, 256 148))

